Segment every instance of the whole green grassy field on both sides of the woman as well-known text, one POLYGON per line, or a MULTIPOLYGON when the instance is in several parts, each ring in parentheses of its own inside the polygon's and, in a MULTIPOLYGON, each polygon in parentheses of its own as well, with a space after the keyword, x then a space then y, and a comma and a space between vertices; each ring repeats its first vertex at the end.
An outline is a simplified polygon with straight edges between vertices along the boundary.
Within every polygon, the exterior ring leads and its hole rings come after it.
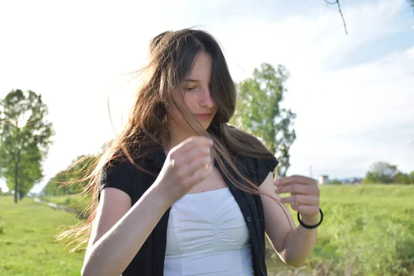
MULTIPOLYGON (((75 202, 78 208, 87 202, 43 199, 75 202)), ((325 219, 318 243, 306 265, 291 270, 292 275, 413 275, 413 199, 414 185, 321 187, 325 219)), ((53 243, 59 225, 77 221, 32 199, 14 205, 12 197, 0 197, 0 275, 79 275, 83 252, 69 254, 63 244, 53 243)), ((276 255, 268 269, 270 275, 288 275, 276 255)))

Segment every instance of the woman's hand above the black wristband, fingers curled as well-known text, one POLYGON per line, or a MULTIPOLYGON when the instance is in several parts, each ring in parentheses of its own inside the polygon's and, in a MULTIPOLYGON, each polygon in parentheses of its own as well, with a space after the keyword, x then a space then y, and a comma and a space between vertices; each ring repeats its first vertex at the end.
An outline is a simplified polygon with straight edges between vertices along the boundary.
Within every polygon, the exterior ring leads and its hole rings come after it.
POLYGON ((319 187, 315 179, 301 175, 275 179, 275 193, 290 193, 282 197, 282 203, 290 203, 293 210, 302 215, 303 221, 317 222, 319 215, 319 187))

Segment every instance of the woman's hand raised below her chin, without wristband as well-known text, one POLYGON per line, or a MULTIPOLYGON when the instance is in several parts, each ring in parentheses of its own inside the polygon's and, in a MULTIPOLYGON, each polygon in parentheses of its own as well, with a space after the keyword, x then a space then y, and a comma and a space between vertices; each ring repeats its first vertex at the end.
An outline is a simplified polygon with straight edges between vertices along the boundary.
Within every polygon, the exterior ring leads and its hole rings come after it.
POLYGON ((155 185, 168 200, 168 204, 174 204, 195 184, 210 175, 211 146, 213 146, 212 139, 193 136, 168 152, 164 166, 155 181, 155 185))

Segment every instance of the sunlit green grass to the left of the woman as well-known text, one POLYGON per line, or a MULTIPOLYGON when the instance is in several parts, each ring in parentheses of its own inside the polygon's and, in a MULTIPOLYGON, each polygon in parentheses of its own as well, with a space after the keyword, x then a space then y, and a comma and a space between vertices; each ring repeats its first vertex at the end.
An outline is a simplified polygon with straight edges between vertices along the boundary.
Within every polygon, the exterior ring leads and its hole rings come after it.
POLYGON ((60 225, 77 224, 70 213, 24 198, 0 197, 0 275, 79 275, 83 253, 54 243, 60 225))

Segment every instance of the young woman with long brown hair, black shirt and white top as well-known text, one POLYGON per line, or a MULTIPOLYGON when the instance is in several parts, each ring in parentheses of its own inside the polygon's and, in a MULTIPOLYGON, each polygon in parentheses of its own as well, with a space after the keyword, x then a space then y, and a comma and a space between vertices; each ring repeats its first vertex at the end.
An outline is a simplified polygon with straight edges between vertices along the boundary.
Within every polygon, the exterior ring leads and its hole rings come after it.
POLYGON ((87 187, 97 204, 82 275, 266 275, 265 233, 300 266, 322 219, 319 189, 308 177, 273 181, 272 153, 227 124, 236 89, 217 41, 163 32, 142 73, 128 123, 87 187))

